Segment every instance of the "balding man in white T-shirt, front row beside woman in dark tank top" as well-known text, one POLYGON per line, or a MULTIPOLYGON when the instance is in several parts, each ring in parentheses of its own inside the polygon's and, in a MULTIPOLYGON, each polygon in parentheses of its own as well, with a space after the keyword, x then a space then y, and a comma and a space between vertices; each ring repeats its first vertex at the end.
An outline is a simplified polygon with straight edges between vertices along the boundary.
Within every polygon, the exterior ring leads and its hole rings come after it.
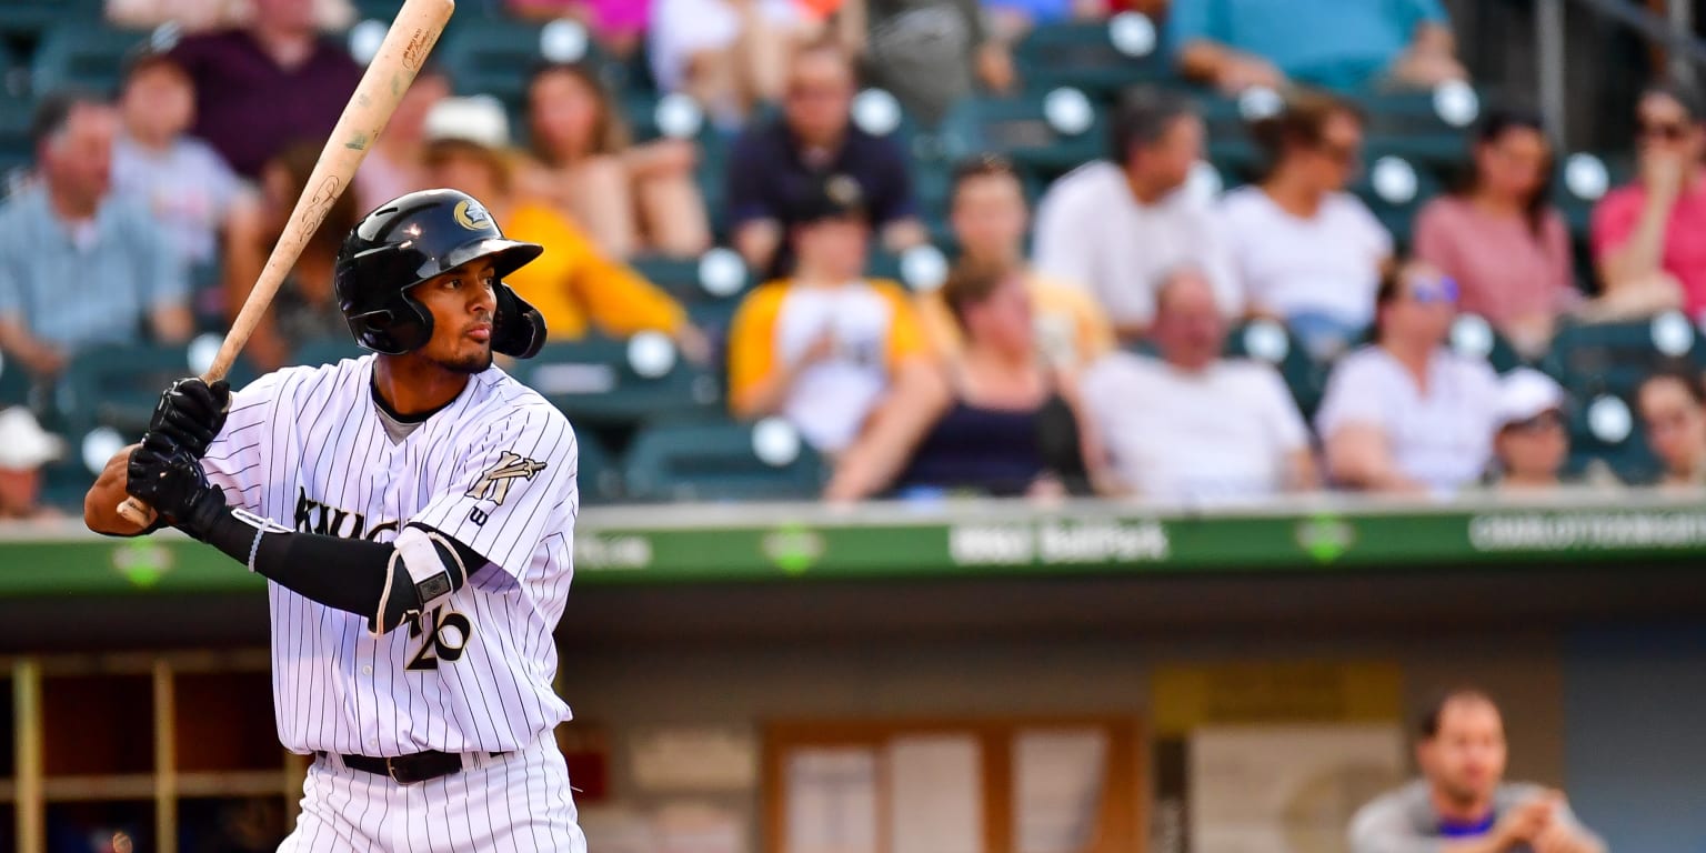
POLYGON ((1297 403, 1273 367, 1220 357, 1227 322, 1201 273, 1167 278, 1152 338, 1162 358, 1114 353, 1083 379, 1119 488, 1192 503, 1315 488, 1297 403))

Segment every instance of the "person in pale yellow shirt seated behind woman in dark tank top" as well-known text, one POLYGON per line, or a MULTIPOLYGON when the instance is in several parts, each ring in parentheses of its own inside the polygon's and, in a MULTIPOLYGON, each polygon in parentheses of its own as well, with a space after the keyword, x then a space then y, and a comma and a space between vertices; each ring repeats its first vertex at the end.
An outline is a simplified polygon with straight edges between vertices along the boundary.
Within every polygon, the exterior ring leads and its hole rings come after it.
MULTIPOLYGON (((1037 351, 1049 367, 1083 367, 1114 348, 1114 328, 1088 293, 1032 270, 1025 261, 1030 217, 1012 162, 981 155, 955 167, 949 218, 964 263, 1024 273, 1037 326, 1037 351)), ((918 314, 931 350, 947 360, 959 357, 966 346, 964 334, 940 290, 918 297, 918 314)))

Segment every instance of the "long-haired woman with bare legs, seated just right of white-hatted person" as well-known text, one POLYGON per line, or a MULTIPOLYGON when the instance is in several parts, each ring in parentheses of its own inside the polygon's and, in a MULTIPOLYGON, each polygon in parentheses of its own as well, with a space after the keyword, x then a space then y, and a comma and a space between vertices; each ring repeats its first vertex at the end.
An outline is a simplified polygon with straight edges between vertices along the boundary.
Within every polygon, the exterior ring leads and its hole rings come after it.
POLYGON ((711 244, 688 140, 633 145, 597 75, 544 65, 527 84, 534 164, 520 186, 580 223, 611 258, 691 258, 711 244))

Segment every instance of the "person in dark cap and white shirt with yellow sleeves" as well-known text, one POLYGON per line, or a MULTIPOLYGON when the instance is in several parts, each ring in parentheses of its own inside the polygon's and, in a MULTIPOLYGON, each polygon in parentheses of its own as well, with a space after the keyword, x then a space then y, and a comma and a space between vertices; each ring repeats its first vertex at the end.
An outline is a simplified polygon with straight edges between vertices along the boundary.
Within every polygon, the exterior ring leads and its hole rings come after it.
POLYGON ((793 278, 746 297, 728 333, 737 418, 781 415, 819 452, 836 454, 913 370, 931 370, 913 300, 862 278, 870 225, 846 174, 822 179, 788 217, 793 278))

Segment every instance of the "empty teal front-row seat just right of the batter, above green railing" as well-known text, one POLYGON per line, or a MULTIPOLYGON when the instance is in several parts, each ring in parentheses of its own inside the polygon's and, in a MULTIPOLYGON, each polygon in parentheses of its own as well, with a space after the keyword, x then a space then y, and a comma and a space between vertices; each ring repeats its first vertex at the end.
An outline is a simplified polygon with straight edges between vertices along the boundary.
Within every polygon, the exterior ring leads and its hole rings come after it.
POLYGON ((780 421, 660 423, 635 437, 623 479, 645 502, 802 500, 822 490, 824 464, 780 421))

